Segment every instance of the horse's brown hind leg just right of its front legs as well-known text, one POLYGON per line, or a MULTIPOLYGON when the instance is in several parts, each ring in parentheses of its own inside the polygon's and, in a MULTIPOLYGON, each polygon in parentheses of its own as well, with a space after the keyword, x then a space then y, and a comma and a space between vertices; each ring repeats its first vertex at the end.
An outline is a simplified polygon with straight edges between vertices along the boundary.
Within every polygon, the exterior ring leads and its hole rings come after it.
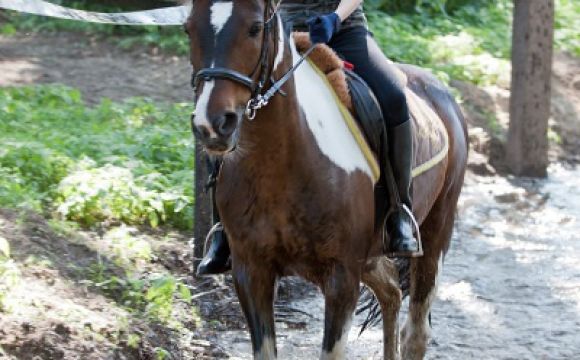
POLYGON ((386 257, 370 260, 363 273, 363 282, 375 294, 383 317, 383 348, 385 360, 399 358, 399 311, 402 293, 395 264, 386 257))

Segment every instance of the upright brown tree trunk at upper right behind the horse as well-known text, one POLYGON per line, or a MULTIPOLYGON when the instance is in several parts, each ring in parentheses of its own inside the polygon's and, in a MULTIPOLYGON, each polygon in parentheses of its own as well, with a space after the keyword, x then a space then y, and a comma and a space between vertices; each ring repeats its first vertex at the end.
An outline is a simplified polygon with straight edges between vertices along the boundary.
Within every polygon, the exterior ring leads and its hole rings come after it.
POLYGON ((554 35, 554 0, 515 0, 507 165, 518 176, 544 177, 554 35))

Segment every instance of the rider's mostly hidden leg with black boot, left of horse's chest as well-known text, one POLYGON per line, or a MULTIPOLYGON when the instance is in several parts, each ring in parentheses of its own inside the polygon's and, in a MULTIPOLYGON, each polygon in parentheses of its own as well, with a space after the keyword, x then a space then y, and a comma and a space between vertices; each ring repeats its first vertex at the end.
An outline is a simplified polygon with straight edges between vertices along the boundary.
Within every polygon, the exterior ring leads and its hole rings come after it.
POLYGON ((230 264, 230 247, 223 226, 220 223, 220 216, 215 204, 215 177, 219 172, 219 160, 210 160, 209 172, 212 174, 210 179, 210 199, 212 205, 213 228, 207 235, 206 244, 210 243, 209 249, 203 260, 197 267, 197 275, 213 275, 223 273, 231 268, 230 264))

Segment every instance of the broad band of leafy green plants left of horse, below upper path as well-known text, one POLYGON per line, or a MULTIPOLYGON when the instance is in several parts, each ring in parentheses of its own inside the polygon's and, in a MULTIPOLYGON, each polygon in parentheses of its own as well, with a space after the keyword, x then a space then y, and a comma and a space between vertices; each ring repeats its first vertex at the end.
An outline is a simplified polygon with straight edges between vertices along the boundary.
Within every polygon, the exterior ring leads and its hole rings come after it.
POLYGON ((0 204, 103 221, 190 229, 187 105, 143 99, 87 107, 77 90, 0 90, 0 204))

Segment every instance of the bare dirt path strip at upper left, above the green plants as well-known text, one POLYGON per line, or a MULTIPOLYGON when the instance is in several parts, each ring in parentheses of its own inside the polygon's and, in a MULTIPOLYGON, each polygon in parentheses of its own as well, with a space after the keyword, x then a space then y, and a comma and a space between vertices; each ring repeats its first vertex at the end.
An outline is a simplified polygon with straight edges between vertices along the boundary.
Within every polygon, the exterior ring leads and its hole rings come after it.
POLYGON ((90 103, 146 96, 192 100, 187 57, 127 52, 81 34, 0 37, 0 86, 60 83, 90 103))

